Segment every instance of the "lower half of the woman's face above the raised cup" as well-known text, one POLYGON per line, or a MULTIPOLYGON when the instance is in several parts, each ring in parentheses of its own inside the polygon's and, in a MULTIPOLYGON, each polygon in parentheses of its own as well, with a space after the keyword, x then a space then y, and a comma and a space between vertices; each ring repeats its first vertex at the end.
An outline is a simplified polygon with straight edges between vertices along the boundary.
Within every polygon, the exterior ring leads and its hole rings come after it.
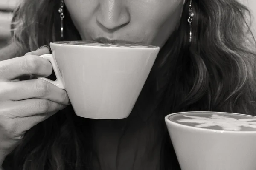
POLYGON ((64 0, 82 40, 162 47, 179 24, 185 0, 64 0))

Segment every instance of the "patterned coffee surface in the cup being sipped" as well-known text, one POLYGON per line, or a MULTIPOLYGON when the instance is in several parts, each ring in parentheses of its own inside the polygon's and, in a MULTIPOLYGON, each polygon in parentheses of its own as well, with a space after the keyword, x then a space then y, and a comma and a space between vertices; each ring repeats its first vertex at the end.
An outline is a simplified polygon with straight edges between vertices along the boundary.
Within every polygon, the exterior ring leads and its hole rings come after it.
POLYGON ((59 41, 54 42, 55 44, 64 44, 64 45, 82 45, 90 47, 121 47, 121 48, 156 48, 153 45, 147 44, 127 44, 127 43, 99 43, 97 41, 59 41))

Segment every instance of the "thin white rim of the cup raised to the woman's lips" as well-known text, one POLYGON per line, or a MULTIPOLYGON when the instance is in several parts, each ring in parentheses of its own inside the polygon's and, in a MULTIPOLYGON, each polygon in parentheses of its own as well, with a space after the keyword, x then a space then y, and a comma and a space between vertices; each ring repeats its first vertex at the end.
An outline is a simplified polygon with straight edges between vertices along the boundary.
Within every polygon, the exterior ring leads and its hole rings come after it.
MULTIPOLYGON (((80 42, 84 42, 84 41, 81 41, 79 40, 80 42)), ((57 46, 70 46, 69 44, 61 44, 60 42, 78 42, 78 41, 54 41, 54 42, 50 42, 50 45, 57 45, 57 46)), ((93 41, 92 41, 93 42, 93 41)), ((143 43, 140 43, 143 45, 143 43)), ((147 44, 144 44, 144 45, 147 45, 147 44)), ((159 46, 155 46, 155 45, 150 45, 152 47, 148 47, 148 48, 140 48, 140 47, 137 47, 137 48, 130 48, 130 47, 102 47, 102 46, 87 46, 87 45, 72 45, 72 46, 76 46, 76 47, 79 47, 79 48, 101 48, 101 49, 113 49, 113 48, 126 48, 126 49, 131 49, 131 50, 152 50, 152 49, 155 49, 155 50, 159 50, 160 47, 159 46)))

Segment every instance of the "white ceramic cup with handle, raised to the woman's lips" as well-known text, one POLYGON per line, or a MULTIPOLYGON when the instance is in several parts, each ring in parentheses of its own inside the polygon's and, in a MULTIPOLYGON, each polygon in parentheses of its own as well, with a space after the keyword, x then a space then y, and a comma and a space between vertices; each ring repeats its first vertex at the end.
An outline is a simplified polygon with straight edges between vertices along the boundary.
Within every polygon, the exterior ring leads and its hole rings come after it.
POLYGON ((122 119, 129 116, 159 52, 151 45, 51 42, 48 59, 57 77, 44 79, 67 91, 77 116, 122 119))

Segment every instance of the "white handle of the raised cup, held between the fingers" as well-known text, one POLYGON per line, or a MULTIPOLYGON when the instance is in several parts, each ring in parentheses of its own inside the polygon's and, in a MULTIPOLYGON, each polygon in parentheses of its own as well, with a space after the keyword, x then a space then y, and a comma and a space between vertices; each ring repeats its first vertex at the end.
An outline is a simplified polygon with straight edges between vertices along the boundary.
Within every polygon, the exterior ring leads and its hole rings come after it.
POLYGON ((37 79, 43 79, 43 80, 45 80, 47 82, 50 82, 50 83, 56 85, 58 88, 65 89, 66 87, 65 87, 64 81, 63 81, 63 79, 61 77, 61 73, 60 73, 60 71, 58 69, 58 65, 57 65, 53 55, 52 54, 44 54, 44 55, 41 55, 40 57, 48 59, 49 62, 51 62, 53 71, 55 72, 55 75, 56 75, 57 79, 55 81, 52 81, 52 80, 47 79, 45 77, 37 77, 37 79))

